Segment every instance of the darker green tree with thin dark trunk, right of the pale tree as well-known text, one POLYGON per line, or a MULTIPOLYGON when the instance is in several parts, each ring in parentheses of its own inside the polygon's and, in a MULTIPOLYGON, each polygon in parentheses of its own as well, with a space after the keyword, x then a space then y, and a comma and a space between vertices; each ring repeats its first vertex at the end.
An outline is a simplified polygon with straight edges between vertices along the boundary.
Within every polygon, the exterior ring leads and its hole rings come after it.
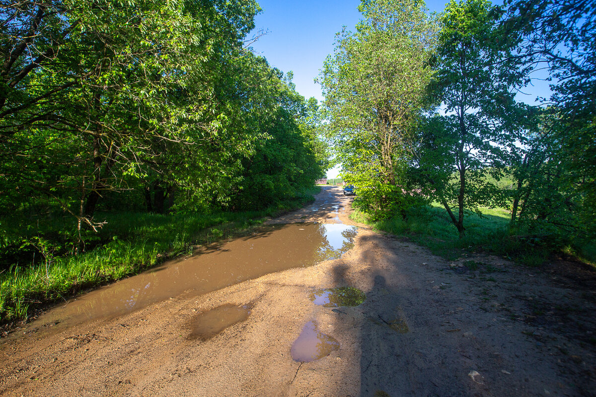
POLYGON ((490 12, 486 0, 447 5, 429 89, 446 115, 430 121, 417 158, 427 191, 445 207, 460 237, 466 210, 480 212, 480 206, 498 202, 486 173, 499 177, 523 130, 524 108, 514 94, 528 71, 508 57, 516 41, 501 39, 490 12))

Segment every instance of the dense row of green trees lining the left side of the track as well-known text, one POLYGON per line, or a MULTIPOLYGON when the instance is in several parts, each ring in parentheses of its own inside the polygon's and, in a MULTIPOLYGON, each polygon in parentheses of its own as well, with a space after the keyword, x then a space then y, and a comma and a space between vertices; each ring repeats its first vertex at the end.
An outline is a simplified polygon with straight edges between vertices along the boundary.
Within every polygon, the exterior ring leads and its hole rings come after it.
POLYGON ((326 161, 318 104, 250 51, 257 12, 252 0, 2 1, 2 267, 35 262, 41 245, 92 248, 98 211, 253 210, 311 187, 326 161))

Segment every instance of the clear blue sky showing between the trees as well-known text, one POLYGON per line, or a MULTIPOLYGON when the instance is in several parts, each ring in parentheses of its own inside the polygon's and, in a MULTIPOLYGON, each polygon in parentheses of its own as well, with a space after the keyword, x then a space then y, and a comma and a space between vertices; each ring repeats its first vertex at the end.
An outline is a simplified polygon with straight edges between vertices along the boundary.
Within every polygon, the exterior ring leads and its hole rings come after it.
MULTIPOLYGON (((346 26, 354 30, 360 20, 360 0, 257 0, 263 11, 257 15, 256 30, 268 30, 253 43, 253 50, 267 58, 269 64, 284 73, 294 72, 296 90, 305 98, 314 96, 322 101, 321 86, 313 81, 319 74, 325 57, 333 54, 335 34, 346 26)), ((427 0, 430 11, 441 12, 448 0, 427 0)), ((493 3, 502 4, 501 0, 493 3)), ((527 87, 528 95, 520 97, 534 103, 536 95, 549 96, 548 83, 536 82, 527 87)), ((337 177, 338 168, 327 172, 337 177)))

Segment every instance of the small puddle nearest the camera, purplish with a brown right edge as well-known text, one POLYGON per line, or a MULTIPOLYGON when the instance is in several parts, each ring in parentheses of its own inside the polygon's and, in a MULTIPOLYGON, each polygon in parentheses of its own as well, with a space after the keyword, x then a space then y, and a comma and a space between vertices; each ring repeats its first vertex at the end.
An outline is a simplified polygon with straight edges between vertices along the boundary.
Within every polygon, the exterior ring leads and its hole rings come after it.
POLYGON ((339 342, 316 329, 315 321, 309 321, 294 340, 290 352, 294 361, 311 362, 319 360, 339 349, 339 342))

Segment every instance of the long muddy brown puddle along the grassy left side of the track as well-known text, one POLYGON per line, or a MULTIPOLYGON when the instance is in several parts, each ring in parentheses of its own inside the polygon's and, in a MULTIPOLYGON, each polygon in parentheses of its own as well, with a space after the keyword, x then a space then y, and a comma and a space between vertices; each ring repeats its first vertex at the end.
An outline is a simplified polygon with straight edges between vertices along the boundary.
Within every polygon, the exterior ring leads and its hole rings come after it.
POLYGON ((344 224, 295 223, 263 227, 252 235, 209 246, 203 253, 165 262, 101 287, 39 317, 32 327, 68 326, 113 317, 173 298, 198 295, 293 267, 339 258, 358 229, 344 224))

